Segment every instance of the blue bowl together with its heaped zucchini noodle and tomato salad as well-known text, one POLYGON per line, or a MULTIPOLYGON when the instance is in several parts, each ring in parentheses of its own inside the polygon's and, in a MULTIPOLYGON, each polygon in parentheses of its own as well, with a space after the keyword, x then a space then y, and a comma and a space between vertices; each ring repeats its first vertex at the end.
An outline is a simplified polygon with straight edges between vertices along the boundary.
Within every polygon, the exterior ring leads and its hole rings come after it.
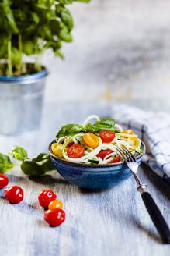
POLYGON ((70 183, 89 190, 104 190, 132 174, 117 148, 129 149, 141 163, 145 146, 133 130, 123 130, 114 119, 100 120, 92 115, 82 125, 62 126, 48 150, 57 172, 70 183), (91 119, 96 122, 90 123, 91 119))

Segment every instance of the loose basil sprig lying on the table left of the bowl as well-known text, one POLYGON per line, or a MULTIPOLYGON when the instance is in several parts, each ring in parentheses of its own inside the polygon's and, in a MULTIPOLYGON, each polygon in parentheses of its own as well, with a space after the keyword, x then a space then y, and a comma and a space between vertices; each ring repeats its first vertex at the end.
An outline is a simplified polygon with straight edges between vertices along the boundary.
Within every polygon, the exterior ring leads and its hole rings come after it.
MULTIPOLYGON (((51 172, 55 169, 50 159, 50 155, 46 153, 40 153, 35 158, 29 159, 24 148, 13 146, 9 151, 9 155, 12 155, 12 158, 15 158, 16 160, 22 161, 20 165, 21 170, 26 175, 43 176, 47 172, 51 172)), ((12 169, 16 165, 18 164, 12 163, 8 155, 0 153, 1 173, 9 171, 9 169, 12 169)))

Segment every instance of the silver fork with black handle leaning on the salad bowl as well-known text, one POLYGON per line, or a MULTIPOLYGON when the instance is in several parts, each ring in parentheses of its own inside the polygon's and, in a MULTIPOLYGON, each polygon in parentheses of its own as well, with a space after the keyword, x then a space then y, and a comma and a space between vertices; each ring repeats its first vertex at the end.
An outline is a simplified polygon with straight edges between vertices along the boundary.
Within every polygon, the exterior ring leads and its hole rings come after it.
POLYGON ((154 199, 151 197, 151 194, 147 192, 147 185, 142 183, 137 176, 137 159, 129 150, 125 148, 116 148, 116 150, 120 152, 120 155, 123 157, 124 162, 127 164, 130 171, 134 174, 134 178, 138 184, 137 190, 141 192, 141 197, 147 208, 147 212, 149 213, 152 221, 154 222, 154 226, 158 230, 158 233, 161 236, 161 240, 163 240, 165 244, 170 244, 170 230, 168 228, 168 225, 165 222, 164 217, 161 215, 157 204, 155 204, 154 199))

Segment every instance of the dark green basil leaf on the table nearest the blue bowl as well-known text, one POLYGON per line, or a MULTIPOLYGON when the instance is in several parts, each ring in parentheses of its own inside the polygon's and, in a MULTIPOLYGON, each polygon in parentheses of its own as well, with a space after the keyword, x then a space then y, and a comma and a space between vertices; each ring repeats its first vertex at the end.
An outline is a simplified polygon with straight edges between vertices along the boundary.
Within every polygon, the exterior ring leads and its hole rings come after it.
POLYGON ((50 155, 40 153, 40 155, 37 155, 32 160, 23 161, 21 169, 26 175, 43 176, 47 172, 54 170, 55 167, 50 159, 50 155))

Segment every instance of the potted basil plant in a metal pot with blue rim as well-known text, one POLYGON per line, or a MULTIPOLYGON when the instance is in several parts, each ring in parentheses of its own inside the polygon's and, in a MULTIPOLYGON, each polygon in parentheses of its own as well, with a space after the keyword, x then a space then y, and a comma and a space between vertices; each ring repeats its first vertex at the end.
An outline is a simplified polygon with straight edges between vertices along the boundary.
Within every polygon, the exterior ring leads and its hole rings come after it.
POLYGON ((0 0, 0 133, 40 125, 47 69, 43 53, 61 57, 71 42, 73 20, 66 5, 90 0, 0 0), (26 55, 33 62, 24 62, 26 55), (24 58, 23 58, 24 57, 24 58))

